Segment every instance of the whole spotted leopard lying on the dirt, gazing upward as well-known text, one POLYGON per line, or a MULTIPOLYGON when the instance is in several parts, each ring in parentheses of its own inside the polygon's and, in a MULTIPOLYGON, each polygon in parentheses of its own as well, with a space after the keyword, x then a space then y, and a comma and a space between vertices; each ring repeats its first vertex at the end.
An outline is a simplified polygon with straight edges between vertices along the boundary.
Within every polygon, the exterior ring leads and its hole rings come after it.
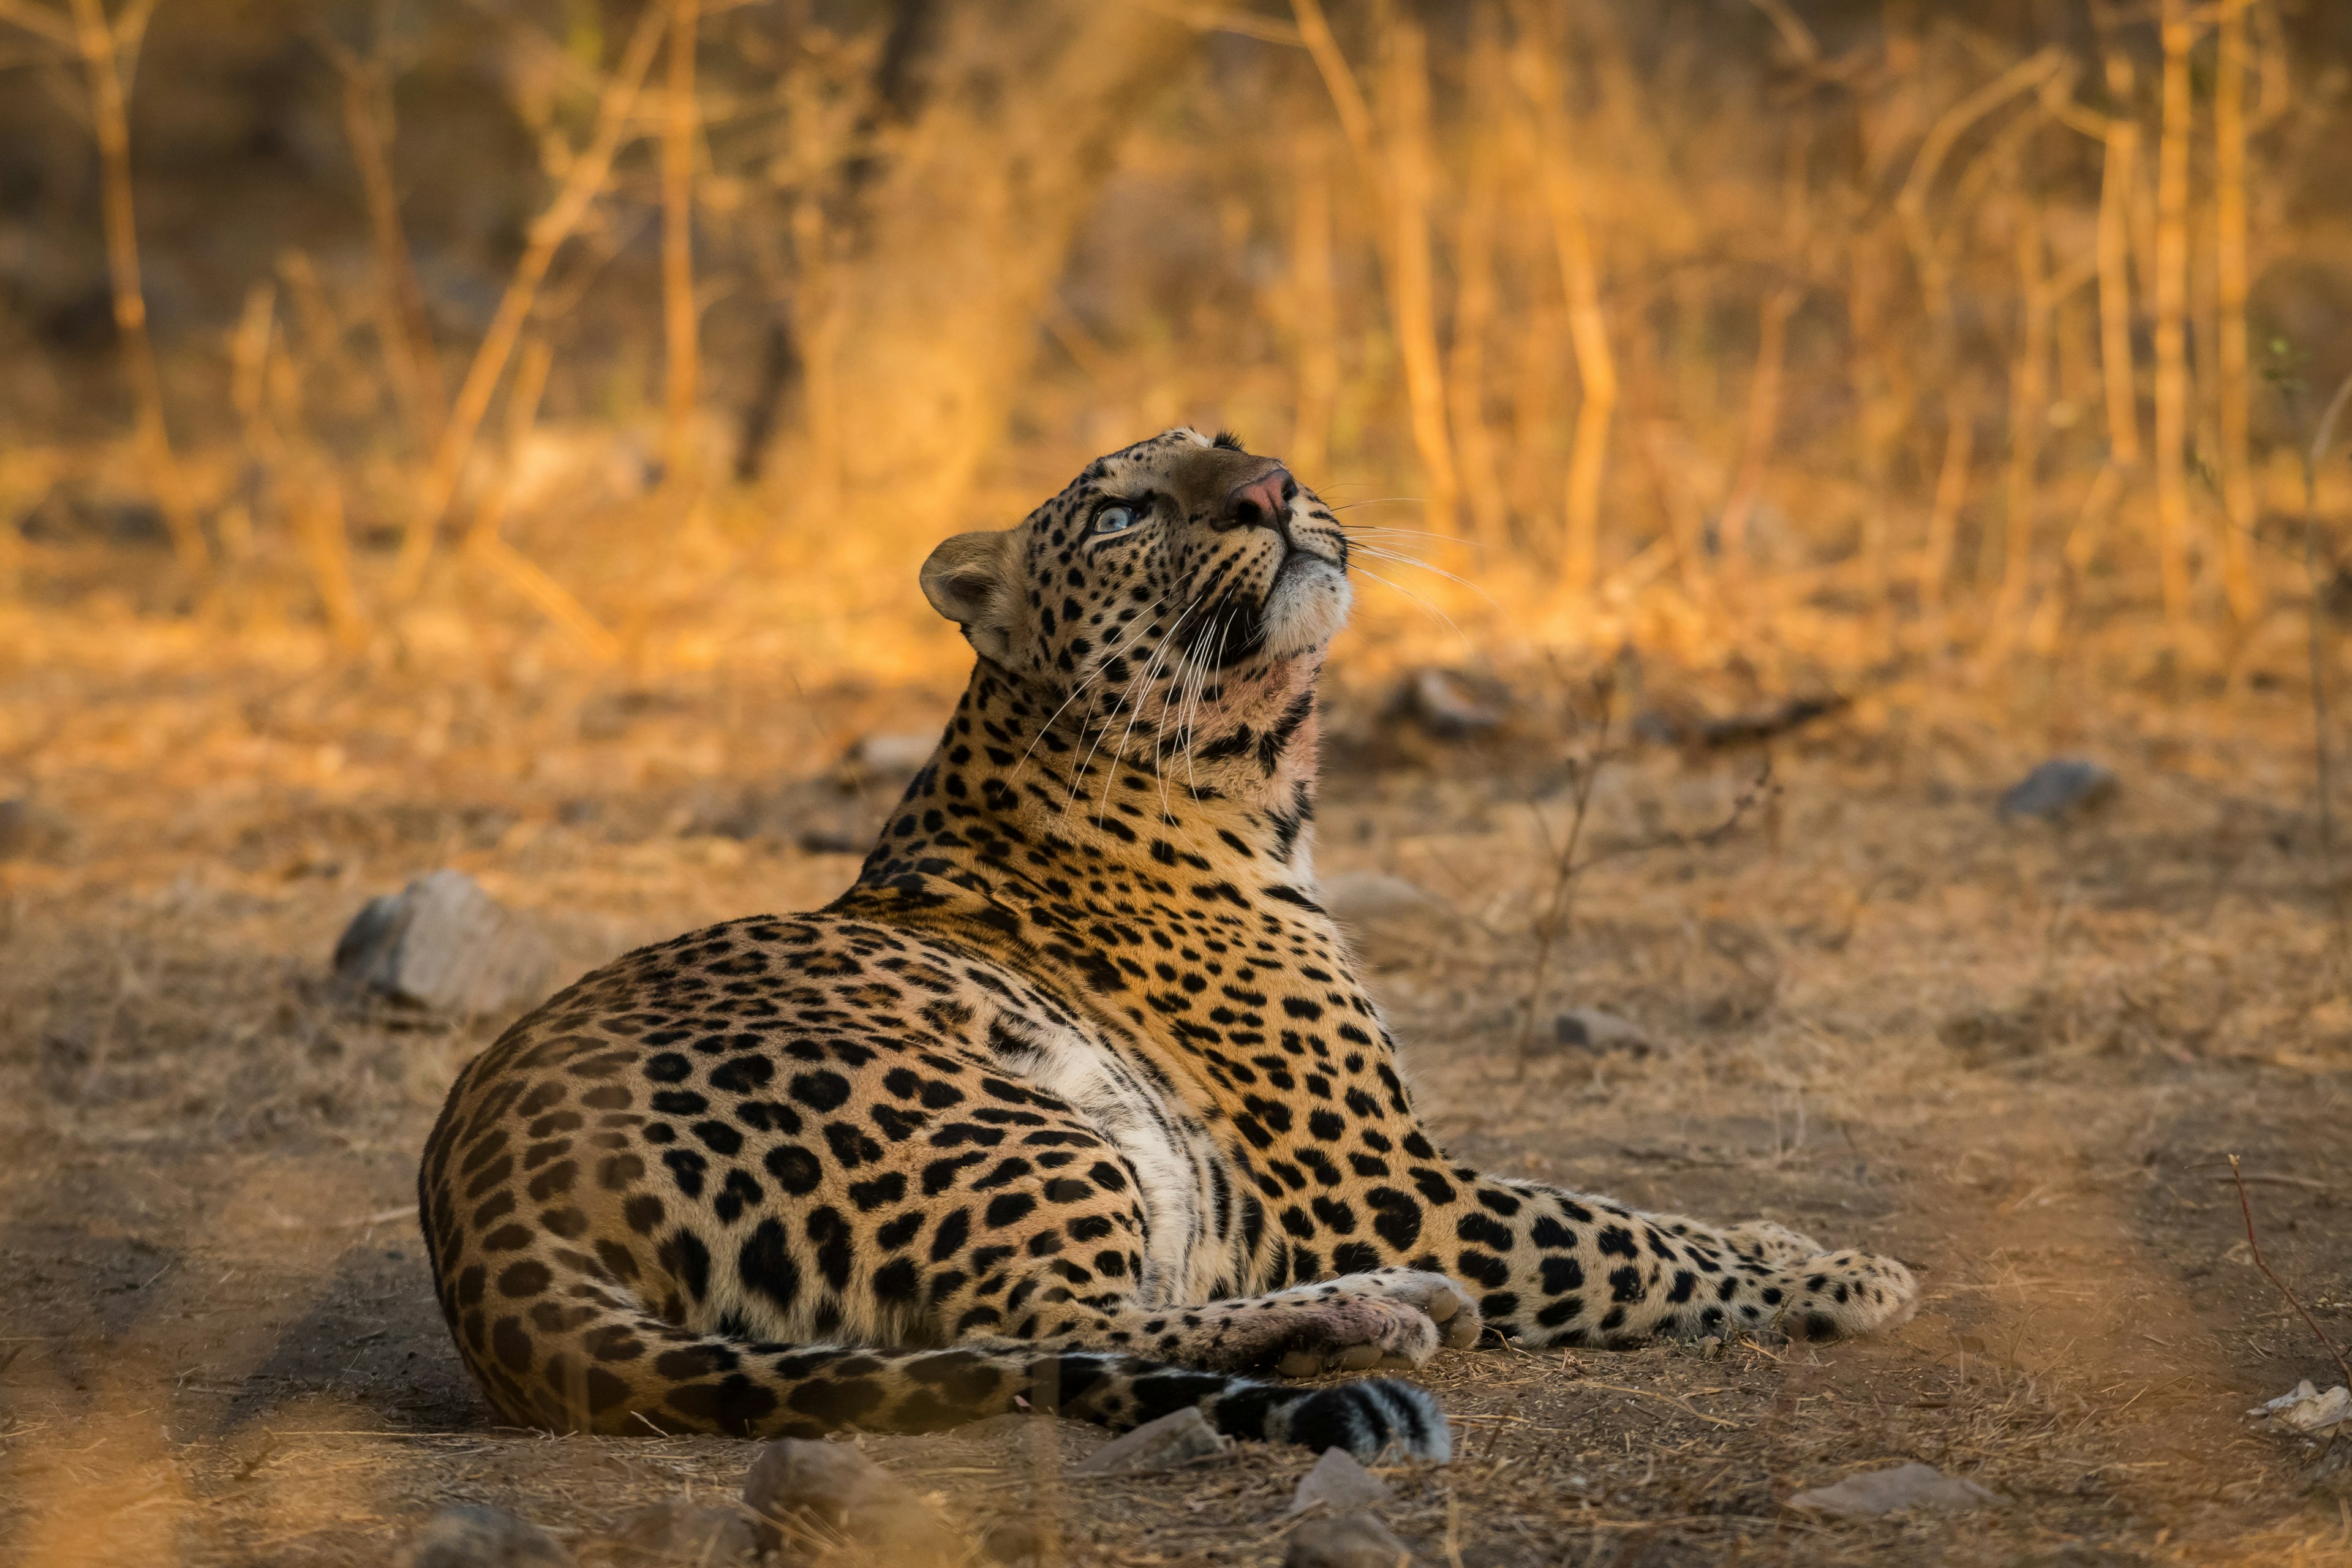
POLYGON ((938 543, 971 675, 856 882, 630 952, 456 1074, 419 1215, 499 1418, 1192 1408, 1442 1462, 1402 1373, 1444 1349, 1903 1321, 1896 1258, 1439 1150, 1315 877, 1355 571, 1279 458, 1192 428, 938 543))

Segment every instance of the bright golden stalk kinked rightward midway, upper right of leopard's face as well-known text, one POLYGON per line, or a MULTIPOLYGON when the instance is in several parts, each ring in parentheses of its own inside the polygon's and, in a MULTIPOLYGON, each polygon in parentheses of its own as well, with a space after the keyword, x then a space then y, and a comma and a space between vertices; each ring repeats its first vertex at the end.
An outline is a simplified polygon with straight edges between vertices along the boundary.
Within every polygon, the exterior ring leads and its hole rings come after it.
POLYGON ((1585 226, 1569 106, 1552 75, 1550 49, 1538 38, 1531 5, 1519 7, 1519 24, 1512 75, 1536 122, 1543 214, 1552 230, 1559 287, 1569 301, 1569 341, 1576 348, 1576 376, 1583 383, 1583 400, 1576 404, 1576 437, 1569 447, 1566 536, 1559 576, 1571 595, 1585 595, 1592 592, 1599 569, 1602 477, 1609 468, 1609 425, 1616 418, 1618 374, 1609 346, 1609 317, 1602 310, 1599 268, 1592 261, 1592 235, 1585 226))

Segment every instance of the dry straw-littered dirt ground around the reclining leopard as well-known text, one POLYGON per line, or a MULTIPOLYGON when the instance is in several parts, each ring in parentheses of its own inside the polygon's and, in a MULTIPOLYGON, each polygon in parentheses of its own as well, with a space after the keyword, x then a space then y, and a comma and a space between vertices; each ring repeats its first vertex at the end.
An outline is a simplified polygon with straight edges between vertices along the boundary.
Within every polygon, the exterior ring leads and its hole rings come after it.
MULTIPOLYGON (((412 1180, 501 1020, 358 1009, 327 954, 437 865, 567 969, 818 903, 889 797, 835 759, 950 693, 122 651, 19 663, 7 691, 0 792, 31 806, 0 860, 0 1556, 374 1563, 447 1502, 581 1544, 731 1493, 743 1443, 492 1425, 412 1180)), ((2246 1157, 2265 1258, 2352 1340, 2352 1004, 2307 710, 1889 686, 1773 743, 1762 790, 1764 752, 1621 712, 1529 1034, 1564 764, 1595 743, 1531 691, 1472 745, 1385 733, 1369 686, 1336 705, 1322 870, 1435 900, 1362 945, 1437 1131, 1503 1173, 1896 1253, 1926 1302, 1856 1345, 1439 1354, 1456 1460, 1385 1472, 1381 1509, 1418 1559, 2352 1563, 2352 1441, 2244 1427, 2338 1373, 2251 1267, 2223 1159, 2246 1157), (2053 750, 2114 766, 2117 797, 1997 816, 2053 750), (1562 1044, 1566 1006, 1639 1039, 1562 1044), (1903 1460, 1999 1505, 1785 1507, 1903 1460)), ((858 1441, 974 1533, 1051 1521, 1073 1563, 1277 1563, 1312 1458, 1084 1479, 1084 1427, 858 1441)))

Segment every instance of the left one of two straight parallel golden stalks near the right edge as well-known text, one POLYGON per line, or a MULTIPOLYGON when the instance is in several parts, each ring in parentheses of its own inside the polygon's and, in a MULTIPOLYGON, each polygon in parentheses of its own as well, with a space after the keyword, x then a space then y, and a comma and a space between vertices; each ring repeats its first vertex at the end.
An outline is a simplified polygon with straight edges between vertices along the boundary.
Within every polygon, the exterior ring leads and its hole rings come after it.
POLYGON ((2164 122, 2157 136, 2157 574, 2180 646, 2190 616, 2190 0, 2164 0, 2164 122))

